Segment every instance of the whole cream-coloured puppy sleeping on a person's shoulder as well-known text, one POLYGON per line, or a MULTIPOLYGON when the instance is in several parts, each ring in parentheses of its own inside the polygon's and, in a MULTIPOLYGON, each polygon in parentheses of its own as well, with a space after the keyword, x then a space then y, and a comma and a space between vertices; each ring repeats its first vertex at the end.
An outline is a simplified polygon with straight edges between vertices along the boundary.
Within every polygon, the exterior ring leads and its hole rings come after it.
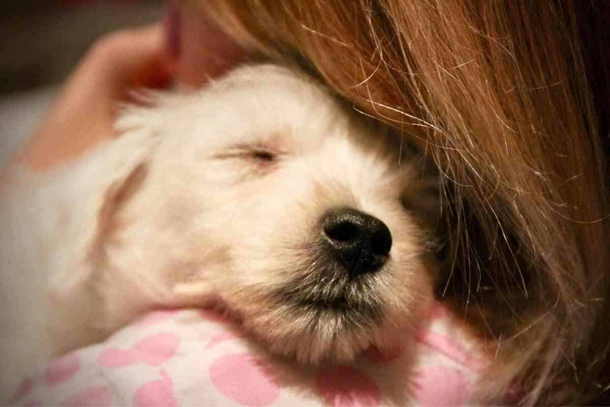
POLYGON ((151 308, 222 304, 272 353, 312 363, 415 326, 439 267, 438 179, 352 110, 303 74, 244 67, 127 108, 121 137, 77 162, 12 168, 2 391, 151 308))

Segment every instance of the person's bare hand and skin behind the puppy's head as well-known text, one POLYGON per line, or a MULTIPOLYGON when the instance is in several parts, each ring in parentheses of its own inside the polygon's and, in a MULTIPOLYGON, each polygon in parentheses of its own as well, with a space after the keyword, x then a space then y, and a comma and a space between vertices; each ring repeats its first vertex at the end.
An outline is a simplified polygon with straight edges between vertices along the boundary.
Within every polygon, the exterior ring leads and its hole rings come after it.
POLYGON ((170 1, 162 22, 107 34, 91 46, 15 162, 45 171, 72 160, 116 136, 113 123, 122 103, 135 102, 134 88, 200 87, 241 57, 204 10, 170 1))

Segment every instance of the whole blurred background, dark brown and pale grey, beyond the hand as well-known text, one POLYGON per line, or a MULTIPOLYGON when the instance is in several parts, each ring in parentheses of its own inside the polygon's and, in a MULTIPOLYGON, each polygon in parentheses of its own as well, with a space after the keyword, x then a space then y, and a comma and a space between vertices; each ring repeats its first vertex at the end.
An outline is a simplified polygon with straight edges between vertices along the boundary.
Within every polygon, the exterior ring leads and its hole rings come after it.
POLYGON ((0 5, 0 164, 35 128, 100 35, 160 20, 162 0, 9 0, 0 5))

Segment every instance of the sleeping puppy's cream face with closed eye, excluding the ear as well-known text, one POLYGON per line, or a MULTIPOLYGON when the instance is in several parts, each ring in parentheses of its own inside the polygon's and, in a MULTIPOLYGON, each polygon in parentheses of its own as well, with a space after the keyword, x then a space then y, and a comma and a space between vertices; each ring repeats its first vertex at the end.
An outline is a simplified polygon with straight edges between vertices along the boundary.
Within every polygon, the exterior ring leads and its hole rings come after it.
POLYGON ((165 253, 155 262, 176 292, 217 295, 300 361, 391 344, 430 304, 437 273, 436 178, 349 110, 270 67, 169 101, 131 209, 157 208, 142 244, 165 253))

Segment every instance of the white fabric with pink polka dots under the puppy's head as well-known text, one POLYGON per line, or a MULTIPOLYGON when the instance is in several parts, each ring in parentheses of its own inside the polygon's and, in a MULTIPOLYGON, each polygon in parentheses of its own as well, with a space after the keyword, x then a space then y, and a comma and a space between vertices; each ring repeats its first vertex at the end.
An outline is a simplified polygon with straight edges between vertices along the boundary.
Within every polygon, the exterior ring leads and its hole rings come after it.
POLYGON ((439 306, 391 350, 349 365, 298 366, 210 311, 157 311, 50 362, 0 404, 19 406, 458 406, 487 366, 439 306))

